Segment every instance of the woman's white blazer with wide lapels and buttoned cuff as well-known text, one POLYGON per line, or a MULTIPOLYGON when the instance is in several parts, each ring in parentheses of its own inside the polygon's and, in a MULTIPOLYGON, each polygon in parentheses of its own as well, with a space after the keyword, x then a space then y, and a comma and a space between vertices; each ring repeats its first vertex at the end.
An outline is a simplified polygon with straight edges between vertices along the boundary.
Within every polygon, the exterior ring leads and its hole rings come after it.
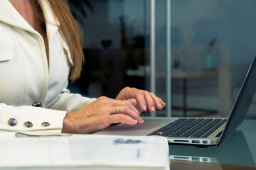
POLYGON ((0 130, 61 130, 67 111, 77 111, 95 101, 66 89, 69 65, 73 64, 70 52, 45 0, 41 0, 41 6, 46 18, 49 66, 42 36, 9 1, 0 1, 0 130), (42 108, 33 107, 35 102, 42 108))

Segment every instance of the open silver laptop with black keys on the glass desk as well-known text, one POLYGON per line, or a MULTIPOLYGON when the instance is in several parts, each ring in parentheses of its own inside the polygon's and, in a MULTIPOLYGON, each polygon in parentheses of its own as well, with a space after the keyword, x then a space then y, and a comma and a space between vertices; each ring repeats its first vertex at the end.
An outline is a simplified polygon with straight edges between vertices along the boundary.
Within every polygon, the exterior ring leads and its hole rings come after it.
POLYGON ((220 145, 242 123, 256 91, 256 60, 252 61, 229 118, 150 118, 144 123, 119 123, 95 132, 104 135, 159 135, 169 143, 184 145, 220 145))

